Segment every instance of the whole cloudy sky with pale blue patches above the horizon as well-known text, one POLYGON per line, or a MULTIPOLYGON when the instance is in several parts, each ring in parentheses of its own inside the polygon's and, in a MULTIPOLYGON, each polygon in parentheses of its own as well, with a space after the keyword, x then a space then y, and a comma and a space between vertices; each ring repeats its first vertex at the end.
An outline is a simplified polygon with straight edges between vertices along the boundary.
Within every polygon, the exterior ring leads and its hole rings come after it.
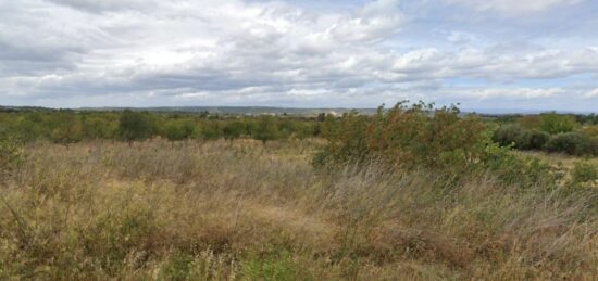
POLYGON ((0 104, 598 112, 595 0, 0 0, 0 104))

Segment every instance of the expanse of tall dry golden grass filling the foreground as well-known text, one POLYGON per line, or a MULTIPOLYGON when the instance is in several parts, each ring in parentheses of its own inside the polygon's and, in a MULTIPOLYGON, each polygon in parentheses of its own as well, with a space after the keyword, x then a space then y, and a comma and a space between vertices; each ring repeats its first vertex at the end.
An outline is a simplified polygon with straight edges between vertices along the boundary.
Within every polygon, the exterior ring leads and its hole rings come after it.
POLYGON ((29 145, 0 190, 0 279, 598 277, 596 191, 321 175, 320 145, 29 145))

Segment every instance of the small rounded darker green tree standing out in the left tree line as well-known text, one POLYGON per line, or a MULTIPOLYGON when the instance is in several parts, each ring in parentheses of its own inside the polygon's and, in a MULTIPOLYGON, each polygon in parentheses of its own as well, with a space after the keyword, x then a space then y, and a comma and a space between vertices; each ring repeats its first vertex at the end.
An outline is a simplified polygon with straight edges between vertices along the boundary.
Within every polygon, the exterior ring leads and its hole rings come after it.
POLYGON ((153 126, 146 114, 126 110, 121 114, 119 133, 123 140, 130 144, 133 141, 151 137, 153 126))

